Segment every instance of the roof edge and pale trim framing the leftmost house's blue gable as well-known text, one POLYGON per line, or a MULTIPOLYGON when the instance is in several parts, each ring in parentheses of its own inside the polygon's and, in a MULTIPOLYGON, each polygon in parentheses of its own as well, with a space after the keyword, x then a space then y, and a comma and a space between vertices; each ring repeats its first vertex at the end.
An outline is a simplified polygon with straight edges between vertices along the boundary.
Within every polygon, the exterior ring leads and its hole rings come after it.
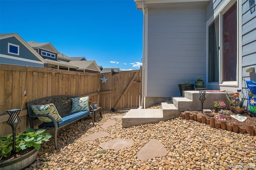
MULTIPOLYGON (((46 61, 44 60, 44 58, 39 55, 23 38, 21 38, 21 36, 17 33, 7 33, 7 34, 0 34, 0 40, 6 39, 6 38, 11 38, 11 37, 15 37, 20 43, 22 43, 22 45, 24 45, 33 55, 35 55, 41 62, 42 64, 46 63, 46 61)), ((2 56, 4 57, 4 56, 2 56)), ((34 60, 29 60, 26 59, 23 56, 17 56, 17 57, 13 57, 10 56, 12 58, 16 58, 17 60, 22 60, 22 61, 28 61, 28 62, 36 62, 34 60)))

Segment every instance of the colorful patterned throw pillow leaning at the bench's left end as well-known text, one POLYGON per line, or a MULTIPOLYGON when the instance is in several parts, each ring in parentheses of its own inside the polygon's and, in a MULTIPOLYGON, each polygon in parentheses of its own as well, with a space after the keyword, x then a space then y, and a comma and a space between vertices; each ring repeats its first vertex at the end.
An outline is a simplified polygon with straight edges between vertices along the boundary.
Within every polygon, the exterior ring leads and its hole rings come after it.
MULTIPOLYGON (((32 105, 31 106, 33 112, 36 115, 50 115, 53 117, 57 122, 61 122, 62 119, 54 106, 54 104, 50 103, 47 105, 32 105)), ((52 122, 52 120, 48 117, 38 117, 38 119, 44 123, 44 122, 52 122)))

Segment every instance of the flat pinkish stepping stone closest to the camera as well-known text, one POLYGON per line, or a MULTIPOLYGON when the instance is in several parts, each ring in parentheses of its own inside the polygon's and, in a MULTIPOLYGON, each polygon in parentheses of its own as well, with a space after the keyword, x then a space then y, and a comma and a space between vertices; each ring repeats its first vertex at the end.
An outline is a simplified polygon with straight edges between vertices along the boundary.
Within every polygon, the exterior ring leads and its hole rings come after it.
POLYGON ((150 140, 137 153, 141 161, 152 159, 155 157, 162 157, 167 155, 167 150, 164 145, 156 139, 150 140))

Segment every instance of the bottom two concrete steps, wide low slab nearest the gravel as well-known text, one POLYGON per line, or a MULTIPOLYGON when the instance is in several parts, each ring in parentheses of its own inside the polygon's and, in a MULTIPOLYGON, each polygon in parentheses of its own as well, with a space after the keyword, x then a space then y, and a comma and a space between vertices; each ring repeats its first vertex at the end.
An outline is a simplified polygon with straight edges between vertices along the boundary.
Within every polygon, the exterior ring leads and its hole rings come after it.
POLYGON ((158 123, 179 116, 180 112, 172 103, 162 103, 162 109, 131 109, 122 118, 122 127, 158 123))

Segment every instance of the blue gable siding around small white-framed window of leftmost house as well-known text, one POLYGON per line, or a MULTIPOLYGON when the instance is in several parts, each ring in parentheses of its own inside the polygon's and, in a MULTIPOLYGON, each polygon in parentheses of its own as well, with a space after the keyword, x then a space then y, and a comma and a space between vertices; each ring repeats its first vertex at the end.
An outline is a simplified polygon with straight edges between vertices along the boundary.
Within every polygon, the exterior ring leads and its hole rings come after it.
MULTIPOLYGON (((15 37, 10 37, 10 38, 0 40, 0 54, 40 61, 40 59, 38 59, 38 57, 36 57, 31 51, 29 51, 29 49, 27 47, 25 47, 15 37), (14 54, 8 53, 8 43, 13 43, 13 44, 19 45, 20 46, 20 55, 14 55, 14 54)), ((2 61, 2 59, 1 59, 1 61, 2 61)))

